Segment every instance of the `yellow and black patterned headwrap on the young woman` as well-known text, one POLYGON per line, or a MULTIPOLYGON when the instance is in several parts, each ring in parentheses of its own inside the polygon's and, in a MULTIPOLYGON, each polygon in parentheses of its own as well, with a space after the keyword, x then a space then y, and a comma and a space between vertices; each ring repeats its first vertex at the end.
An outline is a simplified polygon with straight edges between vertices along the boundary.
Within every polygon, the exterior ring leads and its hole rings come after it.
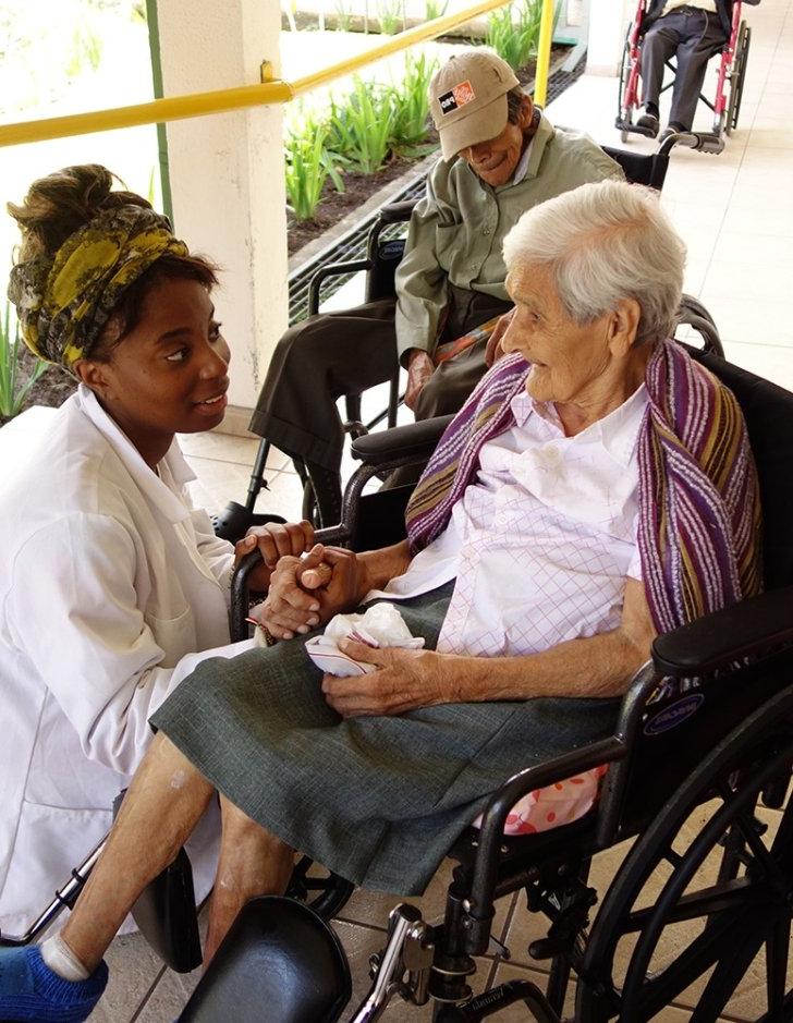
POLYGON ((54 258, 17 264, 9 299, 25 343, 39 358, 71 369, 90 355, 125 289, 167 253, 188 254, 168 219, 120 206, 71 234, 54 258))

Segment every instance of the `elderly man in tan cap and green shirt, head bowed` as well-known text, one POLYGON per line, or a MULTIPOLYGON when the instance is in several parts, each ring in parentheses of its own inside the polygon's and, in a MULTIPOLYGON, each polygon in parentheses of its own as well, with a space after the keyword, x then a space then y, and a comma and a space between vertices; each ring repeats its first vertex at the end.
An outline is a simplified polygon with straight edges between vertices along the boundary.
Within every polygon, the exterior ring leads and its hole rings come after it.
POLYGON ((251 421, 305 466, 326 525, 339 521, 341 507, 337 399, 390 379, 399 358, 416 418, 455 412, 485 372, 486 339, 438 369, 434 352, 510 307, 507 232, 537 203, 622 178, 590 138, 554 129, 489 50, 452 57, 429 93, 442 159, 411 218, 395 308, 383 299, 286 331, 251 421))

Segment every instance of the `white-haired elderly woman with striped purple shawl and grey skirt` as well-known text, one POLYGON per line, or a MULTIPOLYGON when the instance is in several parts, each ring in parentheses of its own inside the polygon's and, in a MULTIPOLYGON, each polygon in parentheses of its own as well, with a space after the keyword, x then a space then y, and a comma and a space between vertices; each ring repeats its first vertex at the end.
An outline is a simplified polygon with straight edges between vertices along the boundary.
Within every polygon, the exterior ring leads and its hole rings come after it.
POLYGON ((283 558, 264 611, 283 640, 309 614, 399 601, 425 649, 350 642, 375 668, 353 679, 322 678, 296 637, 205 661, 155 714, 160 734, 62 933, 84 979, 11 953, 3 1019, 28 1018, 16 1004, 45 979, 48 1011, 57 998, 89 1011, 127 906, 216 789, 207 957, 249 897, 283 890, 294 849, 358 884, 422 891, 505 778, 609 732, 657 632, 757 590, 745 427, 666 340, 684 251, 656 197, 585 185, 526 214, 504 251, 507 357, 442 438, 410 539, 326 550, 332 575, 310 590, 283 558))

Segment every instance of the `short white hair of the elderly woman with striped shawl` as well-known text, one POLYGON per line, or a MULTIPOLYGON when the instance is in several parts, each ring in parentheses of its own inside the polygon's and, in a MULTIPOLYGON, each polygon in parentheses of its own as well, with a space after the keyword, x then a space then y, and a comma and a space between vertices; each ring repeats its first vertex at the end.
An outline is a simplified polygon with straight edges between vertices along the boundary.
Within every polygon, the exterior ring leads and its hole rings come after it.
POLYGON ((658 196, 622 181, 581 185, 525 212, 504 239, 508 271, 550 268, 564 310, 580 326, 635 299, 637 342, 672 334, 685 245, 658 196))

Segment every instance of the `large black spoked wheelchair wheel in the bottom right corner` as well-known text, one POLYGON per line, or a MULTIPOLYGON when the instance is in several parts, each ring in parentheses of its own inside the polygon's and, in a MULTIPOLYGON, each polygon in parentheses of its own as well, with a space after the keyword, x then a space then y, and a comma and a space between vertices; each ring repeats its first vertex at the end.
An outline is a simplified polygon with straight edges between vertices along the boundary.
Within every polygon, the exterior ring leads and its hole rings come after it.
POLYGON ((685 992, 693 1023, 715 1023, 749 971, 765 1002, 751 1018, 792 1018, 793 734, 779 718, 774 705, 753 719, 783 729, 772 739, 733 732, 636 841, 595 921, 576 1020, 644 1023, 685 992), (782 809, 771 826, 755 816, 764 793, 782 809))

